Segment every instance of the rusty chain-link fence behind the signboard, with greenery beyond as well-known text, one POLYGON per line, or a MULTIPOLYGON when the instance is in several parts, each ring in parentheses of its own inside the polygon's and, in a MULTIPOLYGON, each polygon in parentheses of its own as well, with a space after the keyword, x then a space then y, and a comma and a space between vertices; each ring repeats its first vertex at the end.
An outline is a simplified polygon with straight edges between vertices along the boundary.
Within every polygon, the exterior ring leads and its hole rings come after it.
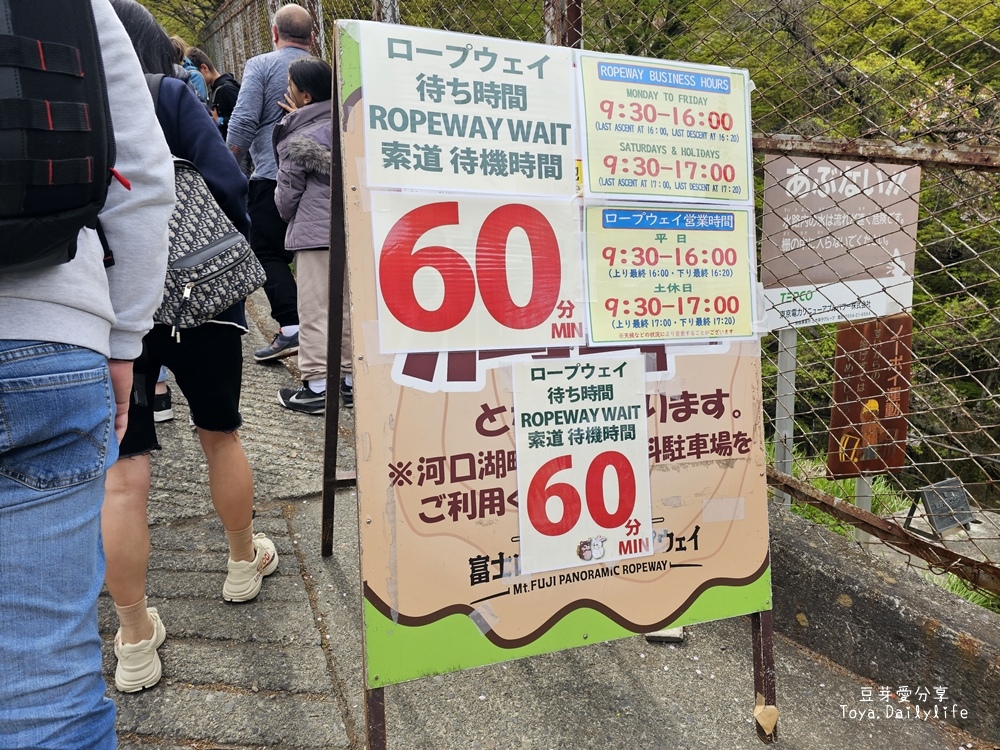
MULTIPOLYGON (((271 48, 268 19, 279 4, 222 5, 202 40, 220 69, 239 74, 271 48)), ((747 68, 756 85, 762 278, 772 318, 784 326, 762 341, 765 425, 779 468, 870 501, 900 523, 912 500, 926 498, 911 528, 945 532, 944 544, 962 555, 1000 562, 1000 525, 989 511, 1000 507, 1000 4, 303 4, 327 59, 336 18, 398 17, 532 42, 582 36, 593 50, 747 68), (864 322, 873 310, 909 314, 883 318, 898 324, 864 322), (850 315, 860 317, 837 322, 850 315), (830 473, 847 478, 830 481, 830 473), (921 492, 944 480, 961 489, 921 492)))

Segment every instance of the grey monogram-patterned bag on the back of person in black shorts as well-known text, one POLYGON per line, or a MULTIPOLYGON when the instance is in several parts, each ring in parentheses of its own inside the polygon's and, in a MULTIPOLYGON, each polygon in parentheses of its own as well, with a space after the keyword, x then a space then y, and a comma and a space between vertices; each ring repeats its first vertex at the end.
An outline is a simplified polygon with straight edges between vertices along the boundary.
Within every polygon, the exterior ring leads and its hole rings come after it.
POLYGON ((163 303, 153 319, 177 329, 211 320, 264 284, 264 268, 194 164, 174 158, 177 202, 163 303))

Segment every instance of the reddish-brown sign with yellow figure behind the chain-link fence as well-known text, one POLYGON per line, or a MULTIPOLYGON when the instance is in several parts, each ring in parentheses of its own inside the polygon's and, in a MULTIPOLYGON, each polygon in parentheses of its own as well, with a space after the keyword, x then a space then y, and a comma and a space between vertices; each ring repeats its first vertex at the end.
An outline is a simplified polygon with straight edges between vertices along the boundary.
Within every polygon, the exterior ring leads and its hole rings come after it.
POLYGON ((837 326, 827 472, 897 472, 906 458, 913 319, 908 313, 837 326))

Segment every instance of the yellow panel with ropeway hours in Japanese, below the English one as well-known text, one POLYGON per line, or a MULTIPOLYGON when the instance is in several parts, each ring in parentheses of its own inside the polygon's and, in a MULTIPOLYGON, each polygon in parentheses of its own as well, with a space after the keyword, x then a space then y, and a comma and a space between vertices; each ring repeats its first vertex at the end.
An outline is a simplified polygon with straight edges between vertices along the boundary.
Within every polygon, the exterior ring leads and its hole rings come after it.
POLYGON ((592 343, 754 335, 749 210, 591 206, 586 223, 592 343))

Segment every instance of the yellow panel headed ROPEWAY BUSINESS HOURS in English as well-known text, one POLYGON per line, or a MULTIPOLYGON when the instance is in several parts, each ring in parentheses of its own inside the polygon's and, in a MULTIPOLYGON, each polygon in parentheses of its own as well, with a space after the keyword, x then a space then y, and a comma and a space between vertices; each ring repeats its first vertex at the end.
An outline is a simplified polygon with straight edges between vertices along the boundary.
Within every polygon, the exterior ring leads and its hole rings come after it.
POLYGON ((753 199, 745 70, 580 55, 587 195, 753 199))

